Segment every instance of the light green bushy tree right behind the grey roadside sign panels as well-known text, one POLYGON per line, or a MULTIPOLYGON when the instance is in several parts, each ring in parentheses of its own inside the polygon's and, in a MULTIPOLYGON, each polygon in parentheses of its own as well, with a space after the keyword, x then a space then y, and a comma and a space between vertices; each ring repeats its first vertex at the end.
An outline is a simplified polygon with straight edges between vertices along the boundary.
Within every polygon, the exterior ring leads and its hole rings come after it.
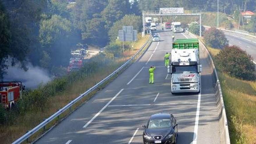
POLYGON ((141 31, 142 29, 142 19, 140 16, 136 15, 125 15, 122 19, 115 22, 114 25, 109 30, 109 38, 111 41, 116 40, 118 36, 118 30, 122 30, 123 26, 133 26, 133 29, 141 31))

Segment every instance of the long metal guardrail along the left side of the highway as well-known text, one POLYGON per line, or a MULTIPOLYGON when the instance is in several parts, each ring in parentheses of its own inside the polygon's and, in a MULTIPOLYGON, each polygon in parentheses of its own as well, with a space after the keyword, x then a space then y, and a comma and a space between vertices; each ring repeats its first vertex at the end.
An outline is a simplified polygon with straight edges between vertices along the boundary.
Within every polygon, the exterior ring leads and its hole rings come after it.
MULTIPOLYGON (((35 134, 37 131, 39 131, 40 129, 42 129, 45 125, 47 125, 49 122, 51 122, 52 120, 54 120, 55 118, 57 118, 59 115, 61 115, 64 111, 68 110, 71 106, 73 106, 75 103, 77 103, 79 100, 81 100, 83 97, 85 97, 86 95, 88 95, 89 93, 91 93, 93 90, 95 90, 96 88, 98 88, 100 85, 102 85, 103 83, 105 83, 107 80, 109 80, 111 77, 113 77, 115 74, 118 74, 118 72, 120 72, 120 70, 122 70, 124 67, 126 67, 132 60, 134 60, 134 58, 141 52, 142 49, 145 48, 145 46, 147 44, 150 44, 152 42, 152 37, 150 36, 148 38, 148 40, 141 46, 141 48, 134 54, 134 56, 132 56, 128 61, 126 61, 122 66, 120 66, 117 70, 115 70, 114 72, 112 72, 109 76, 107 76, 106 78, 104 78, 103 80, 101 80, 99 83, 97 83, 96 85, 94 85, 93 87, 91 87, 90 89, 88 89, 86 92, 84 92, 83 94, 79 95, 76 99, 72 100, 69 104, 65 105, 62 109, 58 110, 56 113, 54 113, 53 115, 51 115, 49 118, 45 119, 43 122, 41 122, 39 125, 37 125, 36 127, 34 127, 33 129, 31 129, 30 131, 28 131, 26 134, 24 134, 23 136, 21 136, 19 139, 17 139, 16 141, 14 141, 12 144, 19 144, 24 142, 25 140, 27 140, 30 136, 32 136, 33 134, 35 134)), ((149 45, 148 45, 149 46, 149 45)))

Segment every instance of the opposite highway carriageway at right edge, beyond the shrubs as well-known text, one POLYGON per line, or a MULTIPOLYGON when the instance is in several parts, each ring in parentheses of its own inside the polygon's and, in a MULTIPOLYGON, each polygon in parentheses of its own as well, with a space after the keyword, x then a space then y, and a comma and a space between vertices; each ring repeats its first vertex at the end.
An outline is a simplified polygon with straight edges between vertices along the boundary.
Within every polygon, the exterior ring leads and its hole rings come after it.
MULTIPOLYGON (((256 62, 256 40, 250 36, 223 31, 231 45, 237 45, 241 49, 246 50, 248 54, 253 57, 254 63, 256 62)), ((256 64, 256 63, 255 63, 256 64)))

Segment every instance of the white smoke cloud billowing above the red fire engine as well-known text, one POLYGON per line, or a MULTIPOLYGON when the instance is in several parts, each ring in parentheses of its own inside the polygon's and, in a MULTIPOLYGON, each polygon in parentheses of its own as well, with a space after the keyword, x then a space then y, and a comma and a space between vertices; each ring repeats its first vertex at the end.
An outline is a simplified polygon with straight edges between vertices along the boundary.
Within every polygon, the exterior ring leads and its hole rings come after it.
POLYGON ((46 70, 34 67, 31 63, 28 63, 26 67, 27 71, 21 69, 18 63, 14 67, 9 66, 6 70, 7 74, 3 75, 3 81, 21 81, 26 88, 36 88, 51 80, 46 70))

